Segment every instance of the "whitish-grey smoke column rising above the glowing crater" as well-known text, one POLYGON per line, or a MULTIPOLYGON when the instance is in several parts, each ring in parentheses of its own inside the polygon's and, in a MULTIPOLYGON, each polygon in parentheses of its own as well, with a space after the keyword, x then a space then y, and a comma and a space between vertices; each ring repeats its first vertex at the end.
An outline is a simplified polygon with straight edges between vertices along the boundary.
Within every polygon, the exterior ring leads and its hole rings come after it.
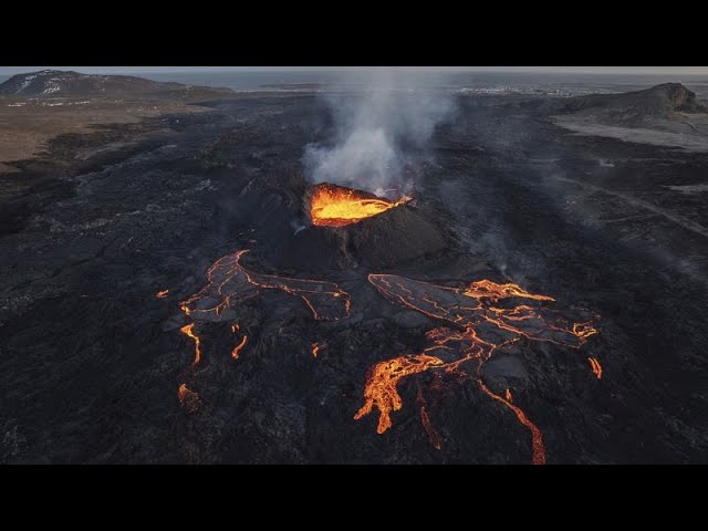
POLYGON ((416 81, 420 79, 399 70, 376 69, 363 94, 329 96, 336 133, 333 143, 305 148, 308 179, 377 195, 403 190, 406 166, 429 156, 436 125, 454 108, 448 92, 424 88, 416 81))

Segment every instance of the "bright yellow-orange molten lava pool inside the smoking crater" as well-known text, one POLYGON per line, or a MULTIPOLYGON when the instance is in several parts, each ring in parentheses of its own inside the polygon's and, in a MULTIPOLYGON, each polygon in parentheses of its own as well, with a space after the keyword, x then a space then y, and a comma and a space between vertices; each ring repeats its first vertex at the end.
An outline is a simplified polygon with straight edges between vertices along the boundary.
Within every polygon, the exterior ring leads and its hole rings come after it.
POLYGON ((310 218, 312 225, 317 227, 344 227, 409 200, 409 197, 404 196, 397 201, 389 201, 373 194, 324 183, 313 189, 310 218))

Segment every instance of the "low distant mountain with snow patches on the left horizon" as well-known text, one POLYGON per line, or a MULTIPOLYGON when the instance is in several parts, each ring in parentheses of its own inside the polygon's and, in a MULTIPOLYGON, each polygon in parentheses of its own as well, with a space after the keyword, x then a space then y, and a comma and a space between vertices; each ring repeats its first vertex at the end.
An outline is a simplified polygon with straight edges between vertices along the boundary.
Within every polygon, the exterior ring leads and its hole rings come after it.
POLYGON ((205 97, 230 93, 229 88, 163 83, 132 75, 93 75, 59 70, 17 74, 0 84, 0 95, 25 96, 96 96, 105 94, 205 97))

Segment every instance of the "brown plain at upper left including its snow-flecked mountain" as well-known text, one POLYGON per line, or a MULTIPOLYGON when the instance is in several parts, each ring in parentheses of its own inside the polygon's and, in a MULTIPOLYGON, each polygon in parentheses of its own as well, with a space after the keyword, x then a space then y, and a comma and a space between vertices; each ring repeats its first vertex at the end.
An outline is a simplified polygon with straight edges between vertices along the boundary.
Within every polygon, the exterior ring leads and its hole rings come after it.
MULTIPOLYGON (((110 124, 137 124, 170 113, 198 113, 205 110, 198 105, 200 101, 233 96, 227 88, 163 84, 129 76, 56 71, 30 75, 34 79, 28 86, 14 87, 13 80, 9 80, 0 91, 0 171, 3 173, 17 171, 22 160, 41 158, 46 154, 49 142, 60 135, 95 133, 110 124)), ((110 150, 140 138, 142 135, 133 134, 102 149, 110 150)), ((88 158, 92 154, 90 148, 79 149, 75 156, 88 158)))

